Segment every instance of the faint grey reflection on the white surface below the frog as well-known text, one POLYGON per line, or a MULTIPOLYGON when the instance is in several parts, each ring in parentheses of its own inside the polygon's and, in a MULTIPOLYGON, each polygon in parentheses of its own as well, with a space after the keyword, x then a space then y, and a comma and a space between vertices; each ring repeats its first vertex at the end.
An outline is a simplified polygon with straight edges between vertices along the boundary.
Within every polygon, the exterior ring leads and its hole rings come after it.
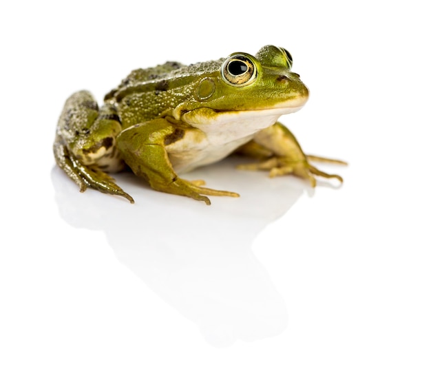
MULTIPOLYGON (((132 173, 116 176, 136 203, 76 185, 54 167, 61 217, 76 228, 103 230, 118 260, 154 293, 193 321, 213 346, 254 341, 286 329, 286 304, 252 251, 264 227, 286 213, 306 184, 237 171, 233 159, 197 169, 211 188, 241 198, 200 202, 145 187, 132 173)), ((283 242, 286 240, 269 240, 283 242)))

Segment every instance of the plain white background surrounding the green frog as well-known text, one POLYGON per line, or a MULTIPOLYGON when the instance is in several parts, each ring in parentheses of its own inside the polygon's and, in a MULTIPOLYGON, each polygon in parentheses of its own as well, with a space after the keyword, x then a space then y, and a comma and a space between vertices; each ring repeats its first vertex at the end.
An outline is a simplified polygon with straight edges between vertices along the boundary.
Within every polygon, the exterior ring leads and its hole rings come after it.
POLYGON ((431 368, 430 20, 424 1, 12 1, 1 31, 1 368, 431 368), (190 173, 211 207, 54 166, 63 102, 136 67, 293 54, 282 122, 348 160, 295 178, 190 173))

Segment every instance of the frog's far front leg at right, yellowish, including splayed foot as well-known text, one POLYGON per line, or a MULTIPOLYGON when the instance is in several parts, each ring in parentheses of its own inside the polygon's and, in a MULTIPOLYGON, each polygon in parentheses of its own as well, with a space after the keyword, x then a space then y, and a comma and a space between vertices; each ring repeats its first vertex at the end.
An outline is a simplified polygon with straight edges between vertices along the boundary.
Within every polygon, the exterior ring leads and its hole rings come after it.
POLYGON ((346 162, 304 154, 291 131, 278 122, 258 132, 253 140, 244 145, 240 151, 244 154, 264 158, 264 160, 255 164, 240 165, 239 169, 269 170, 271 177, 293 174, 308 180, 313 187, 316 185, 315 176, 336 178, 339 182, 343 182, 341 176, 320 171, 311 165, 310 161, 341 165, 346 165, 346 162))

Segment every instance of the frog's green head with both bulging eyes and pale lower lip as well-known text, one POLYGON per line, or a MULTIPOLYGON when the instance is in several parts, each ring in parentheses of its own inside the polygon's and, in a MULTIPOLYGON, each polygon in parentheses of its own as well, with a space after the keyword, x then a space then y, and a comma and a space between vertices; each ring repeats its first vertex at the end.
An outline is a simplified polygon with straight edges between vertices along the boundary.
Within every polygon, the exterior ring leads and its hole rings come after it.
POLYGON ((211 115, 212 121, 215 114, 296 112, 306 103, 308 89, 291 67, 291 54, 273 45, 264 46, 255 56, 235 52, 220 60, 218 70, 196 79, 193 98, 181 103, 174 116, 186 114, 187 122, 204 123, 205 116, 211 115))

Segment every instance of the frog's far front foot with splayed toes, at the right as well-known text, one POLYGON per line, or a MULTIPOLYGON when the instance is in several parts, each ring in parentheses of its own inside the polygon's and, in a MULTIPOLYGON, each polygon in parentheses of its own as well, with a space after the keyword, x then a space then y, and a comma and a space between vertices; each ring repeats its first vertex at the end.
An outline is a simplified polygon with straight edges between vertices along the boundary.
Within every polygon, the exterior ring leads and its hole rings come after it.
POLYGON ((273 156, 267 160, 264 160, 263 162, 238 165, 238 169, 266 170, 269 171, 269 176, 271 178, 276 176, 284 176, 286 174, 293 174, 294 176, 308 180, 312 187, 316 186, 316 176, 323 178, 335 178, 339 180, 340 183, 343 182, 343 178, 341 178, 341 176, 320 171, 311 165, 308 160, 346 165, 346 162, 341 160, 321 158, 319 156, 306 156, 306 158, 303 160, 292 160, 291 158, 287 157, 273 156))

